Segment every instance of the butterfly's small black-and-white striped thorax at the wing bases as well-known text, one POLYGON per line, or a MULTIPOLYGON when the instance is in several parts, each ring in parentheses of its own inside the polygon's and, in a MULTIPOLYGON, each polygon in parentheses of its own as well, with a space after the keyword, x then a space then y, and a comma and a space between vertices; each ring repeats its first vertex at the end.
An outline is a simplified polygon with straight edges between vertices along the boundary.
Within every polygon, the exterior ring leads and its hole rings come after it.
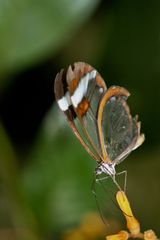
POLYGON ((96 173, 96 175, 100 175, 102 173, 106 173, 109 176, 114 176, 116 174, 115 164, 101 162, 97 166, 97 168, 95 169, 95 173, 96 173))

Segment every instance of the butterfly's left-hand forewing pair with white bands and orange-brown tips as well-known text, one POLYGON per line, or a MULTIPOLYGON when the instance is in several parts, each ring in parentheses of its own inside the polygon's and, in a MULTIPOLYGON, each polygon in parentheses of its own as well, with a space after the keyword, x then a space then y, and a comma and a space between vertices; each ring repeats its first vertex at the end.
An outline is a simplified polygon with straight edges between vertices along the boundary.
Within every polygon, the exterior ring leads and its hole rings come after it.
POLYGON ((68 68, 66 76, 61 71, 55 80, 55 96, 59 107, 80 142, 97 161, 100 161, 102 154, 96 115, 105 91, 106 85, 99 73, 85 63, 75 63, 68 68), (57 91, 62 94, 57 94, 57 91))

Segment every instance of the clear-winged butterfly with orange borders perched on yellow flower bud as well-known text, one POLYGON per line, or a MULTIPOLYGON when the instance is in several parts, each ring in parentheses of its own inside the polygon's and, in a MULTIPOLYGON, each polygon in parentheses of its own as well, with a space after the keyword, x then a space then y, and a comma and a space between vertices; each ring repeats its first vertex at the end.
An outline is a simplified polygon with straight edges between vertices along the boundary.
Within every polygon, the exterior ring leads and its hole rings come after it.
POLYGON ((55 78, 55 98, 74 134, 98 163, 96 175, 115 179, 115 166, 144 141, 138 116, 132 117, 123 87, 107 88, 87 63, 76 62, 55 78))

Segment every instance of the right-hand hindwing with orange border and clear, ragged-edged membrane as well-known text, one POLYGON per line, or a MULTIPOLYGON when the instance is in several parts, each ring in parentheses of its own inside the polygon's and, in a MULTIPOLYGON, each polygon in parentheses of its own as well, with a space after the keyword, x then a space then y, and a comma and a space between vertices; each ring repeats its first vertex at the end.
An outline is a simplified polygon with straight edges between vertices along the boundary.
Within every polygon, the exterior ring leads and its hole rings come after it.
POLYGON ((106 156, 115 164, 134 150, 140 138, 140 123, 130 114, 126 103, 128 96, 126 89, 111 87, 99 105, 99 130, 103 133, 101 143, 106 156))

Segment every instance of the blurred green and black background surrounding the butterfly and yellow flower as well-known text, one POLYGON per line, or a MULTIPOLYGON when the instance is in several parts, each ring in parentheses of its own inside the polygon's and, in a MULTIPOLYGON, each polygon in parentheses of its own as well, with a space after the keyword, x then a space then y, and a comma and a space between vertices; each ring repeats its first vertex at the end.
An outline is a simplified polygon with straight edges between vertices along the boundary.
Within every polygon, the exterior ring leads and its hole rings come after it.
POLYGON ((54 103, 55 75, 75 61, 131 92, 146 141, 117 171, 142 230, 160 236, 160 1, 0 0, 0 239, 104 239, 112 228, 94 232, 96 164, 54 103))

